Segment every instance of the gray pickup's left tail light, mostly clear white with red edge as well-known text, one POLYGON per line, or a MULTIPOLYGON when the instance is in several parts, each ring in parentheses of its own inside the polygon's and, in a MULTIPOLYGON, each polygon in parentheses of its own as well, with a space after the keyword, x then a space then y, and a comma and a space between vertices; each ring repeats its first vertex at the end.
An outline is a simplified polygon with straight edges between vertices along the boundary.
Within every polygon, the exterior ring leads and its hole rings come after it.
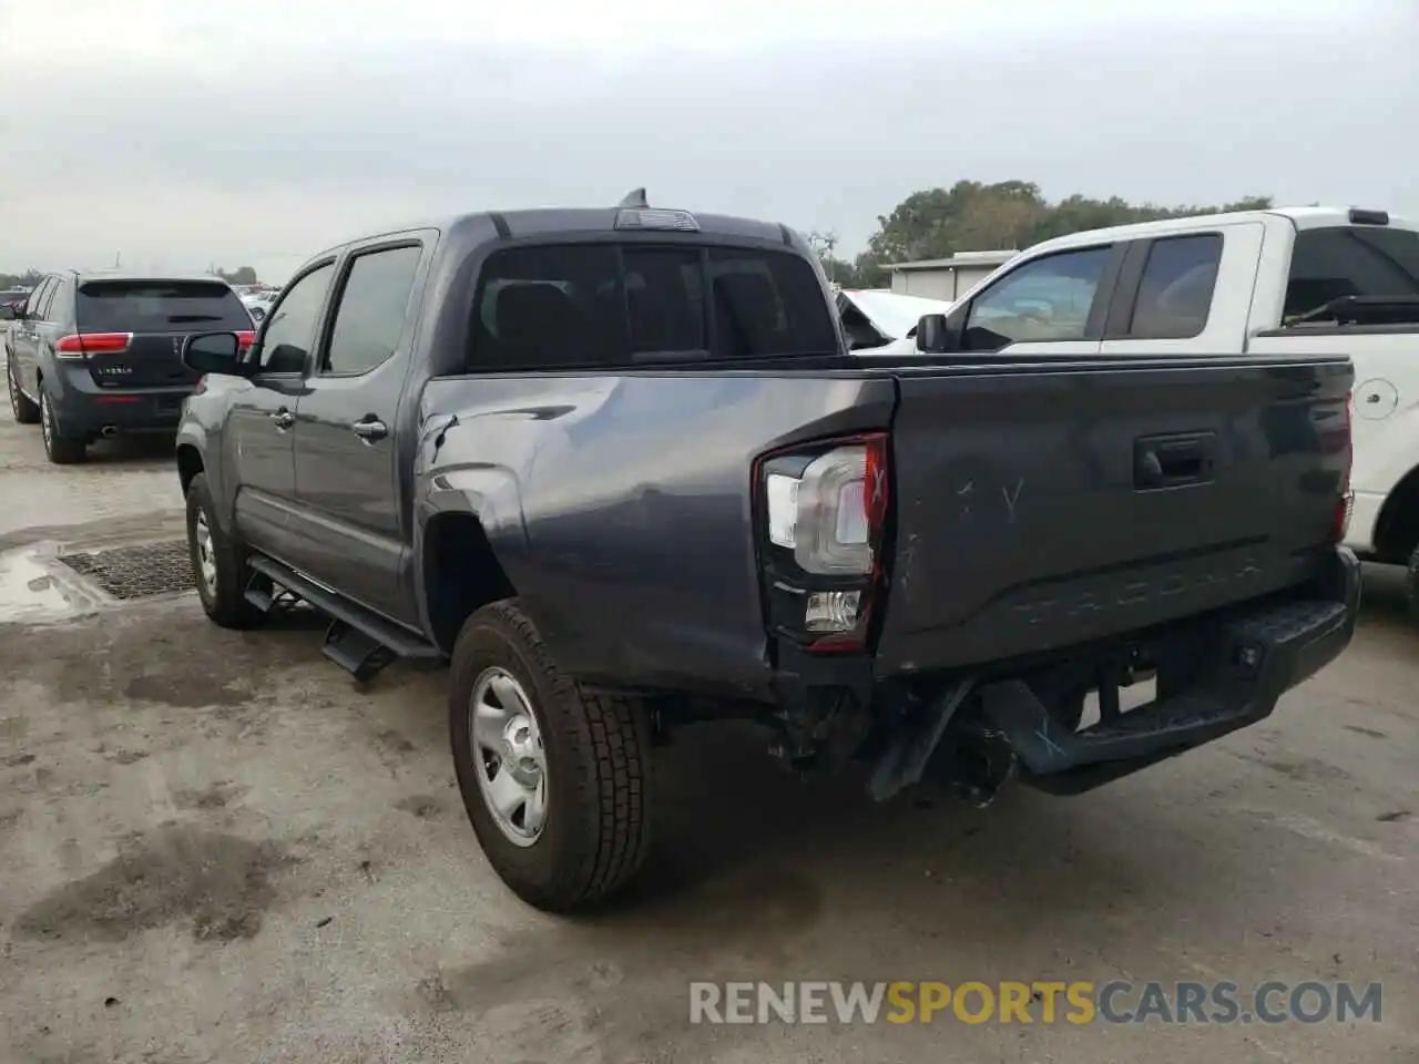
POLYGON ((795 447, 755 462, 769 623, 813 651, 861 650, 881 587, 887 436, 795 447))

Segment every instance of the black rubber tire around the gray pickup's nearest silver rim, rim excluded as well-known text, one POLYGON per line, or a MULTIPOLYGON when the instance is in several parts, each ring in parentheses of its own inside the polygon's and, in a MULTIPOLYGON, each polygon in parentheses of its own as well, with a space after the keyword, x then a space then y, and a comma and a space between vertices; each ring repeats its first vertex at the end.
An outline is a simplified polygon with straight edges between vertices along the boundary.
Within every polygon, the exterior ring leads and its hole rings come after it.
POLYGON ((463 803, 484 854, 512 891, 546 912, 585 909, 623 888, 650 848, 650 719, 640 699, 592 694, 563 675, 517 600, 484 606, 458 633, 448 732, 463 803), (531 843, 508 838, 484 800, 471 706, 501 670, 528 697, 545 756, 546 814, 531 843))

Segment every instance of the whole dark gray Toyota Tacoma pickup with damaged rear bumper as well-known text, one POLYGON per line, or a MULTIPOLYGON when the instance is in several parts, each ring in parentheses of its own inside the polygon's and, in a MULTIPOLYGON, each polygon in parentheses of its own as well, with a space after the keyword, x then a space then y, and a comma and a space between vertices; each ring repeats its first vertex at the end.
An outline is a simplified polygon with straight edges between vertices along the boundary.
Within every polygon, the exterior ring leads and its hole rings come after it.
MULTIPOLYGON (((1127 314, 1117 278, 1071 299, 1127 314)), ((254 343, 187 340, 203 607, 304 600, 360 681, 448 660, 473 827, 552 911, 641 865, 651 750, 690 721, 866 762, 877 799, 928 769, 1077 793, 1345 648, 1347 359, 921 328, 945 350, 860 360, 799 235, 636 193, 331 248, 254 343)))

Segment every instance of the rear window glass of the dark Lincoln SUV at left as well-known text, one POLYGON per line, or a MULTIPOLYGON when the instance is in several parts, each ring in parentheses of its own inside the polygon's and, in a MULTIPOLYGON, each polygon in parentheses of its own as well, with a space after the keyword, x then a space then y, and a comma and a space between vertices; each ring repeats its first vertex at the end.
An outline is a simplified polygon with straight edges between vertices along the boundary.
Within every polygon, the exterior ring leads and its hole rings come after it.
POLYGON ((250 329, 251 315, 224 284, 207 281, 88 281, 79 285, 84 332, 250 329))

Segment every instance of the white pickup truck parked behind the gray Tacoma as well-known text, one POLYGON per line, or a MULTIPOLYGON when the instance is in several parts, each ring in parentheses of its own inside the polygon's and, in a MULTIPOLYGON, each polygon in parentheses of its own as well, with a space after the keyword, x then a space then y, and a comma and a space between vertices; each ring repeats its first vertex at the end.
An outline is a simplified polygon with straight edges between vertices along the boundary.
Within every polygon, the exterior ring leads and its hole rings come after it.
POLYGON ((1344 353, 1355 363, 1345 543, 1408 567, 1419 617, 1419 224, 1300 207, 1090 230, 1022 251, 924 318, 929 353, 1344 353))

